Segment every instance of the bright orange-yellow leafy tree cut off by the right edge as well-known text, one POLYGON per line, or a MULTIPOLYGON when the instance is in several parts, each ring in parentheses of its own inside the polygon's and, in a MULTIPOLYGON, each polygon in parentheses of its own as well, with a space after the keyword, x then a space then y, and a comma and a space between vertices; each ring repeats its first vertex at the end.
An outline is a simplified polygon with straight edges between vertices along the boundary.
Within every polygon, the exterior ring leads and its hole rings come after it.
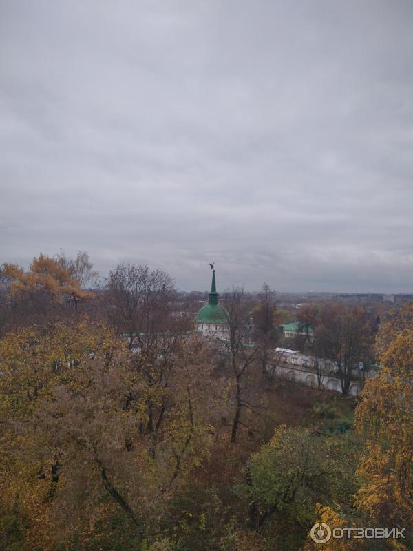
POLYGON ((376 348, 381 371, 366 382, 356 410, 363 450, 357 506, 377 526, 408 531, 413 526, 413 304, 381 324, 376 348))

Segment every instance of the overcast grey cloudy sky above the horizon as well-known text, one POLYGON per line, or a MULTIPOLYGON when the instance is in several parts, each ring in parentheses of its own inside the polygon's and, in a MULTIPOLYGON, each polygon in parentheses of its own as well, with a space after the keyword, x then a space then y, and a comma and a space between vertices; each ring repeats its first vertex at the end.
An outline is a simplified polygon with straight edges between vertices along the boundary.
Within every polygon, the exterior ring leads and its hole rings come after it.
POLYGON ((411 0, 0 0, 0 262, 413 292, 411 0))

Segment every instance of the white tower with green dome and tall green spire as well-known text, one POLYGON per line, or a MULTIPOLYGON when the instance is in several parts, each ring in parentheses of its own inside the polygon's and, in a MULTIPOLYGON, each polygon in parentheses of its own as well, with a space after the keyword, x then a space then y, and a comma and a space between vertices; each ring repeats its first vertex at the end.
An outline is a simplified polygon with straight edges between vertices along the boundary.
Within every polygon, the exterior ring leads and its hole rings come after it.
POLYGON ((215 284, 215 270, 213 269, 209 303, 202 306, 195 316, 195 331, 200 331, 205 337, 215 337, 226 340, 228 336, 226 313, 218 303, 218 297, 219 295, 215 284))

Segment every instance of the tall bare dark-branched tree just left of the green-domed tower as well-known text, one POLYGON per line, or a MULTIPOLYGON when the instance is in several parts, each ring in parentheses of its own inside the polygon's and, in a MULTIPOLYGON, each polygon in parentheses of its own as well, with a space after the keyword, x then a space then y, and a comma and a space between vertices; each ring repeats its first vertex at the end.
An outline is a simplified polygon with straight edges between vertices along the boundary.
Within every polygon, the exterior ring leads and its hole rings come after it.
MULTIPOLYGON (((165 271, 120 264, 109 273, 107 315, 118 333, 127 337, 129 349, 135 351, 136 371, 151 388, 142 430, 151 435, 153 446, 165 422, 176 358, 190 327, 187 318, 173 315, 174 297, 173 280, 165 271)), ((134 395, 129 399, 133 401, 134 395)))

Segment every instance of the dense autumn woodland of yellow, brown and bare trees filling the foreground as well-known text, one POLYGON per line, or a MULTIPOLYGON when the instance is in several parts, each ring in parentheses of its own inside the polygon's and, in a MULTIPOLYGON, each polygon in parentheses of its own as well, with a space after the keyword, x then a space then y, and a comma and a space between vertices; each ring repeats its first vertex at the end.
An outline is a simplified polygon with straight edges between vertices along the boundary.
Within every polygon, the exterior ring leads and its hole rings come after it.
POLYGON ((413 548, 413 304, 300 309, 335 393, 277 375, 265 284, 223 293, 216 342, 145 265, 100 280, 86 253, 41 254, 0 277, 1 550, 310 551, 316 521, 405 528, 326 550, 413 548), (354 398, 360 361, 381 371, 354 398))

